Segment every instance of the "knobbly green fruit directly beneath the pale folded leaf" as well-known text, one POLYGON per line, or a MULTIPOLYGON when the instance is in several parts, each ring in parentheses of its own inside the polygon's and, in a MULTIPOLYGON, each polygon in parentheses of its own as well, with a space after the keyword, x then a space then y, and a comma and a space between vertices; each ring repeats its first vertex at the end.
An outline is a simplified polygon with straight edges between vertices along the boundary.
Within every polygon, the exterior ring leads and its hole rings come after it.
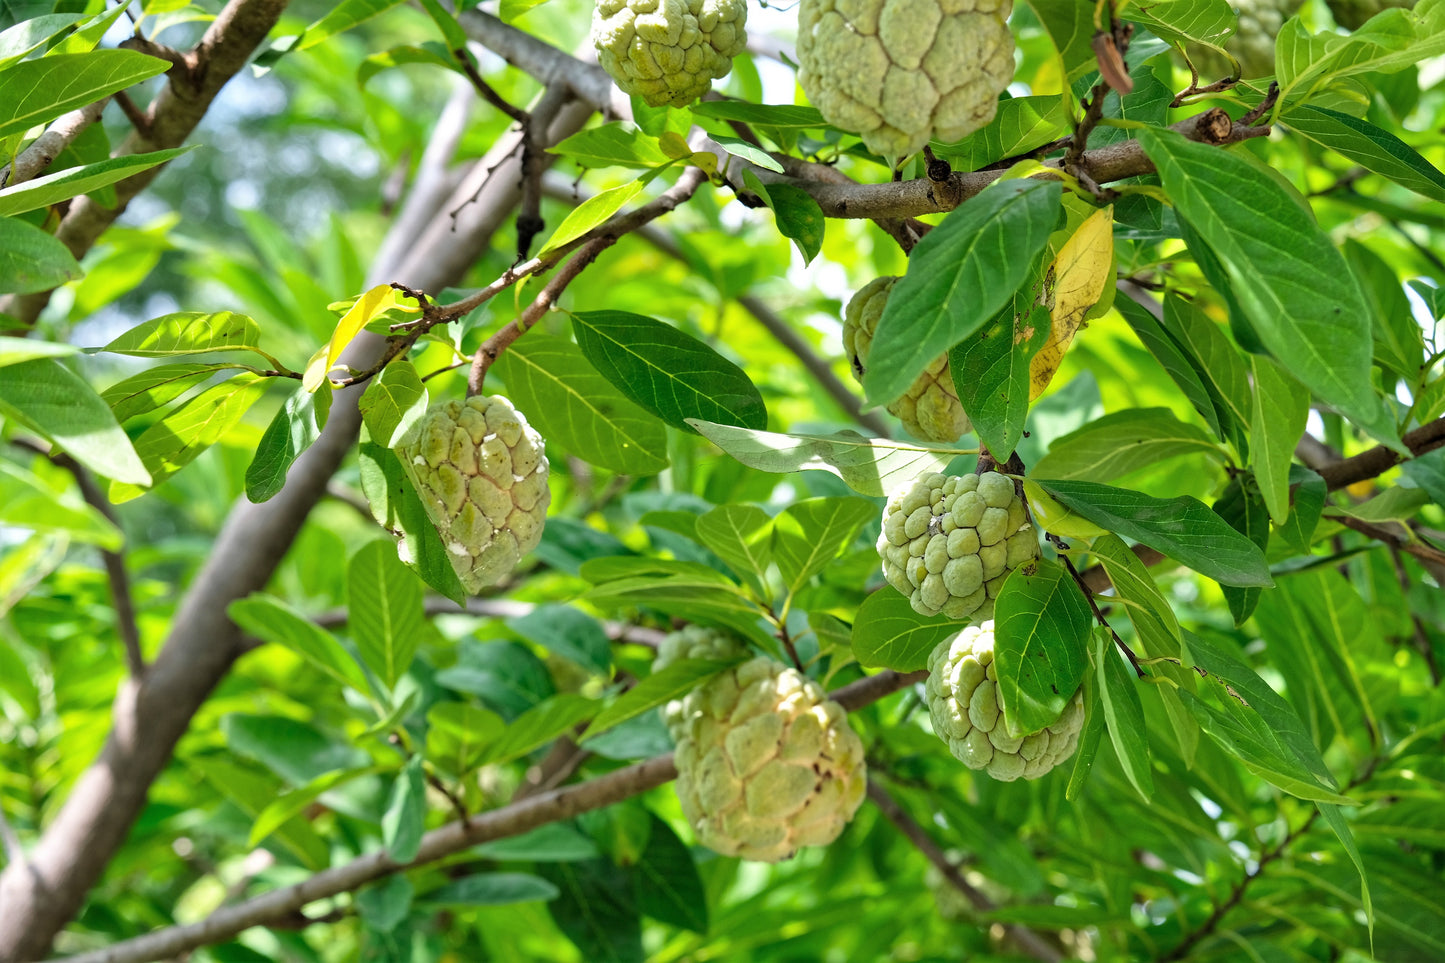
POLYGON ((1027 519, 1006 474, 925 474, 883 506, 883 577, 919 615, 983 622, 1009 573, 1039 557, 1027 519))

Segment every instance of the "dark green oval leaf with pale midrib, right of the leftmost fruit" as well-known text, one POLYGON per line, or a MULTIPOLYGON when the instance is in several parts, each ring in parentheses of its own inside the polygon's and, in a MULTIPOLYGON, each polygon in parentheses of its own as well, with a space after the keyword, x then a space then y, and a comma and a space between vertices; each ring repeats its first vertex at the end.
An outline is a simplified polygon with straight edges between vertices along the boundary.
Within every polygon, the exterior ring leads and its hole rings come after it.
POLYGON ((626 311, 572 315, 577 344, 608 382, 673 428, 686 419, 766 428, 767 408, 733 361, 670 324, 626 311))

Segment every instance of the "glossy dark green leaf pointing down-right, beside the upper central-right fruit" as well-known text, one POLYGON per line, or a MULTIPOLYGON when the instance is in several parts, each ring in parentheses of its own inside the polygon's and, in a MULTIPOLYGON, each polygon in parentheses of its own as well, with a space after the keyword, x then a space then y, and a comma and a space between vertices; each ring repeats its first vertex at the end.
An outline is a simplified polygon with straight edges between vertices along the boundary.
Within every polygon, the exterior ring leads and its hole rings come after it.
POLYGON ((1221 584, 1274 584, 1264 552, 1198 499, 1156 499, 1094 482, 1035 482, 1100 528, 1156 548, 1221 584))

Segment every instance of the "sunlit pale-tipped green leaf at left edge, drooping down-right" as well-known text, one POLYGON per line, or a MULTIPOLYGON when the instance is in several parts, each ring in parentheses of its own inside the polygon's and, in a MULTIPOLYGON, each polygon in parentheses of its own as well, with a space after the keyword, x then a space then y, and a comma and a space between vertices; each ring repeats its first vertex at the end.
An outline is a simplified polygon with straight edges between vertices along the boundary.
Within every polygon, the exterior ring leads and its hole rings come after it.
POLYGON ((85 379, 53 359, 6 366, 0 415, 43 435, 95 474, 150 483, 150 473, 110 406, 85 379))

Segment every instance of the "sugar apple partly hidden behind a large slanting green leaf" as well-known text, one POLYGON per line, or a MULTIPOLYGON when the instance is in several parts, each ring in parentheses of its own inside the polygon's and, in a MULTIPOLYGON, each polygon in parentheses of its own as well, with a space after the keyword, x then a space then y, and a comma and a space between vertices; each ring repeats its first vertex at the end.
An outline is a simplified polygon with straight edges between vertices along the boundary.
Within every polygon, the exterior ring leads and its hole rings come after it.
MULTIPOLYGON (((854 376, 863 382, 873 351, 873 335, 887 305, 889 294, 899 278, 876 278, 858 289, 842 315, 842 348, 854 376)), ((954 374, 948 369, 948 354, 939 354, 922 374, 889 405, 909 434, 922 441, 958 441, 971 425, 964 406, 958 403, 954 374)))

